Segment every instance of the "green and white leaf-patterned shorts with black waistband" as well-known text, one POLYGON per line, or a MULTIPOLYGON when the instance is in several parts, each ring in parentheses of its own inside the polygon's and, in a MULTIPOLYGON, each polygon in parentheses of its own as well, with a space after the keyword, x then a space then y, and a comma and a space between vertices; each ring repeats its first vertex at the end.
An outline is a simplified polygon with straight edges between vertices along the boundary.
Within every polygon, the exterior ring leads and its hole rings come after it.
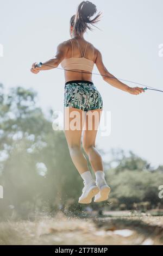
POLYGON ((75 80, 65 83, 64 107, 78 108, 87 112, 102 109, 103 100, 92 82, 75 80))

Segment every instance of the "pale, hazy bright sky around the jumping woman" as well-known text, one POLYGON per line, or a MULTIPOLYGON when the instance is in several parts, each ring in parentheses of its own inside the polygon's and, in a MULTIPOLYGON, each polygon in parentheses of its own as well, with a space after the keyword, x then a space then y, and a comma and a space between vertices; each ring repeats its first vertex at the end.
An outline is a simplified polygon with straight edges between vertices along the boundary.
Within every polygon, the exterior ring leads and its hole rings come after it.
MULTIPOLYGON (((39 103, 62 111, 64 71, 49 70, 34 75, 33 62, 55 55, 60 42, 70 38, 69 21, 81 1, 74 0, 0 0, 0 82, 7 88, 23 86, 39 94, 39 103)), ((103 17, 98 29, 88 31, 85 39, 103 54, 106 68, 117 78, 144 83, 163 89, 162 0, 96 1, 103 17)), ((97 68, 93 72, 97 72, 97 68)), ((154 166, 163 164, 162 93, 148 91, 134 96, 122 92, 100 76, 93 82, 103 97, 104 112, 111 112, 111 134, 101 136, 96 144, 104 151, 110 148, 133 150, 154 166)), ((134 87, 134 84, 127 83, 134 87)))

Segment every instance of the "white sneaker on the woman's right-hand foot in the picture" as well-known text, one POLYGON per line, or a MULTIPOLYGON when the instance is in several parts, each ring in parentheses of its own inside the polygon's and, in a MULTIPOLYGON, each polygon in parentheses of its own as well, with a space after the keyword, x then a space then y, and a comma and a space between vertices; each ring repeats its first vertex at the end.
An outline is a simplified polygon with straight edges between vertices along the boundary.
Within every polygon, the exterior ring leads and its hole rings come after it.
POLYGON ((94 202, 102 202, 108 200, 110 187, 106 184, 106 181, 102 179, 97 186, 99 187, 99 193, 96 194, 94 202))

